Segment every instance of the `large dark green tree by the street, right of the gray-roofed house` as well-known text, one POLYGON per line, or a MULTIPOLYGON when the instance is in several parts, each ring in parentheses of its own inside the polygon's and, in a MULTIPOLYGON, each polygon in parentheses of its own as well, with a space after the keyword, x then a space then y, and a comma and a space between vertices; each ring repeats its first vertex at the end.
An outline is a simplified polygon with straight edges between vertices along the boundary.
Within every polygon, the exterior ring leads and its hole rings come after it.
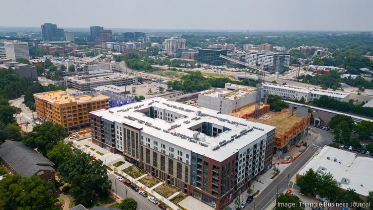
POLYGON ((78 150, 58 166, 58 171, 63 180, 71 183, 70 194, 76 204, 89 206, 91 201, 108 196, 111 181, 101 160, 78 150))

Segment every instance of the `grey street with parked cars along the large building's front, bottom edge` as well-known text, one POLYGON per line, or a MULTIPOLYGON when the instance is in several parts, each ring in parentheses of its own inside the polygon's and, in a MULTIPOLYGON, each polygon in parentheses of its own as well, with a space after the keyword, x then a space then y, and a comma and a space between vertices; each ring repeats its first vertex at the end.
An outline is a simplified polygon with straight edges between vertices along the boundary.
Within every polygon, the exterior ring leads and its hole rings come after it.
POLYGON ((126 198, 126 188, 127 188, 127 196, 128 198, 133 198, 137 202, 137 209, 143 210, 159 210, 158 205, 151 203, 148 198, 144 198, 138 192, 135 192, 131 188, 125 186, 123 183, 116 180, 116 176, 110 172, 107 172, 109 176, 109 180, 111 180, 111 191, 113 193, 117 193, 117 195, 123 199, 126 198), (116 181, 115 181, 116 180, 116 181), (116 182, 116 187, 115 187, 116 182), (115 190, 116 189, 116 190, 115 190))

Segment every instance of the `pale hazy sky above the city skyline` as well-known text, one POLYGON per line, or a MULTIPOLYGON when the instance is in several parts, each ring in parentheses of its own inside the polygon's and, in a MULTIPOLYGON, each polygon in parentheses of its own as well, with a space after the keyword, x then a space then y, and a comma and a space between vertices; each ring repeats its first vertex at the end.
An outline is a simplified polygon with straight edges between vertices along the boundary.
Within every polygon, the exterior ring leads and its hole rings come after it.
POLYGON ((0 0, 0 26, 373 30, 373 0, 0 0))

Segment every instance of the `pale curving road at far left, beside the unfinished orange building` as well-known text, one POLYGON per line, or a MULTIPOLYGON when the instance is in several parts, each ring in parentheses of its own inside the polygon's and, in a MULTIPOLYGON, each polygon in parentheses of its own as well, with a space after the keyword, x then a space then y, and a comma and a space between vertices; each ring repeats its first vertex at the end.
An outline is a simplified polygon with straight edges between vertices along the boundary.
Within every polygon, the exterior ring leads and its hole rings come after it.
POLYGON ((36 119, 36 112, 33 112, 25 104, 22 104, 22 102, 24 102, 23 97, 9 101, 9 104, 22 110, 22 112, 16 116, 16 120, 18 123, 23 123, 27 120, 30 120, 31 123, 28 126, 21 125, 22 130, 27 132, 31 131, 32 127, 34 126, 33 119, 36 119))

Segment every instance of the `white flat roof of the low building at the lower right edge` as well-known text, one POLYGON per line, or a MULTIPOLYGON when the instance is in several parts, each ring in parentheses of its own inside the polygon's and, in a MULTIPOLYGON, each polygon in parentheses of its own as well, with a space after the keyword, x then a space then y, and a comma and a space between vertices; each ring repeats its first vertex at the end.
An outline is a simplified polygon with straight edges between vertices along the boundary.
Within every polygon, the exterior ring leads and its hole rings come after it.
POLYGON ((358 194, 368 196, 373 186, 372 165, 371 157, 361 157, 351 151, 324 146, 299 175, 305 174, 310 168, 320 174, 330 172, 341 183, 342 189, 355 189, 358 194))

